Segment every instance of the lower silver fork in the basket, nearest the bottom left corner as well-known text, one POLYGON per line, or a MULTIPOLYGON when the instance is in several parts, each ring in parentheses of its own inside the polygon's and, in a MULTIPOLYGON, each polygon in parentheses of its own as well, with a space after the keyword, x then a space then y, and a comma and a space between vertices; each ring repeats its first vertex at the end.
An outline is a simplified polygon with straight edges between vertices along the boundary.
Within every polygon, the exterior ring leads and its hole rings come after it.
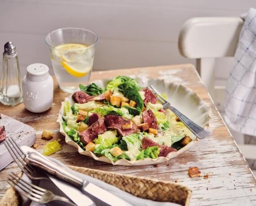
POLYGON ((49 190, 40 188, 35 184, 29 183, 26 180, 22 180, 18 175, 15 175, 13 172, 9 175, 9 177, 7 177, 7 179, 9 180, 9 184, 12 185, 13 188, 18 188, 18 192, 29 198, 31 201, 45 204, 53 200, 58 200, 75 206, 75 204, 69 201, 69 199, 67 199, 66 197, 55 195, 49 190))

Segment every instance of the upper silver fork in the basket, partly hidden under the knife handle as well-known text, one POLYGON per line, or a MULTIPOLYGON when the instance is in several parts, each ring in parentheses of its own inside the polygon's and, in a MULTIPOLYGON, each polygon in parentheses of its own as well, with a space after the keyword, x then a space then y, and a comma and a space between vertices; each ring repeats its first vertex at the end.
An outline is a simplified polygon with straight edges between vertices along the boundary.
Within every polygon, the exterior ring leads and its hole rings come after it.
POLYGON ((49 180, 51 181, 43 172, 38 171, 35 167, 28 165, 25 162, 25 153, 20 149, 17 143, 12 137, 8 137, 4 140, 4 145, 8 152, 12 156, 14 162, 18 167, 31 179, 31 180, 49 180))

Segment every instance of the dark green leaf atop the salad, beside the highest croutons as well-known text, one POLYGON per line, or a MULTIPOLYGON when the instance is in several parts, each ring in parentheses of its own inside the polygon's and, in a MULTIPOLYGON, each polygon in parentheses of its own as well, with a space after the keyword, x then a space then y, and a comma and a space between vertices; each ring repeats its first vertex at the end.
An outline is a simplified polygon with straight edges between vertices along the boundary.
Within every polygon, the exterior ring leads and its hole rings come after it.
POLYGON ((120 92, 124 94, 129 100, 133 100, 136 102, 136 109, 140 112, 143 109, 144 102, 141 98, 141 95, 139 93, 139 90, 137 87, 135 87, 132 84, 129 83, 122 83, 118 86, 118 89, 120 92))

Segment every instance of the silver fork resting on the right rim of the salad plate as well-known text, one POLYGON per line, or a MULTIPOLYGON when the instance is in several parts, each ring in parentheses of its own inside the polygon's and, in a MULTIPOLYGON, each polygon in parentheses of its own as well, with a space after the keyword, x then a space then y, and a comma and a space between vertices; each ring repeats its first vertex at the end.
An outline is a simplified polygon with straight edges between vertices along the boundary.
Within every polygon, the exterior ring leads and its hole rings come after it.
POLYGON ((155 94, 157 94, 160 103, 163 105, 163 109, 170 109, 176 116, 185 124, 186 127, 199 139, 204 139, 207 136, 211 135, 211 132, 203 127, 200 127, 198 124, 194 123, 192 120, 187 118, 179 110, 171 106, 170 102, 166 101, 163 96, 152 86, 149 87, 155 94))

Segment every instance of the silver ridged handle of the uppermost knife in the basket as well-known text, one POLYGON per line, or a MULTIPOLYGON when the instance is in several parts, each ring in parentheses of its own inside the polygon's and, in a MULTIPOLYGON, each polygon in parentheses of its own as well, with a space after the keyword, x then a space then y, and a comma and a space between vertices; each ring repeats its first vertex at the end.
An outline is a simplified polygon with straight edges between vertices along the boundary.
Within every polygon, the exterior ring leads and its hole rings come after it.
POLYGON ((57 176, 58 178, 69 182, 79 188, 83 187, 84 181, 70 172, 66 171, 65 168, 57 165, 55 162, 44 157, 40 153, 28 152, 25 155, 25 162, 36 167, 43 169, 44 171, 57 176))

